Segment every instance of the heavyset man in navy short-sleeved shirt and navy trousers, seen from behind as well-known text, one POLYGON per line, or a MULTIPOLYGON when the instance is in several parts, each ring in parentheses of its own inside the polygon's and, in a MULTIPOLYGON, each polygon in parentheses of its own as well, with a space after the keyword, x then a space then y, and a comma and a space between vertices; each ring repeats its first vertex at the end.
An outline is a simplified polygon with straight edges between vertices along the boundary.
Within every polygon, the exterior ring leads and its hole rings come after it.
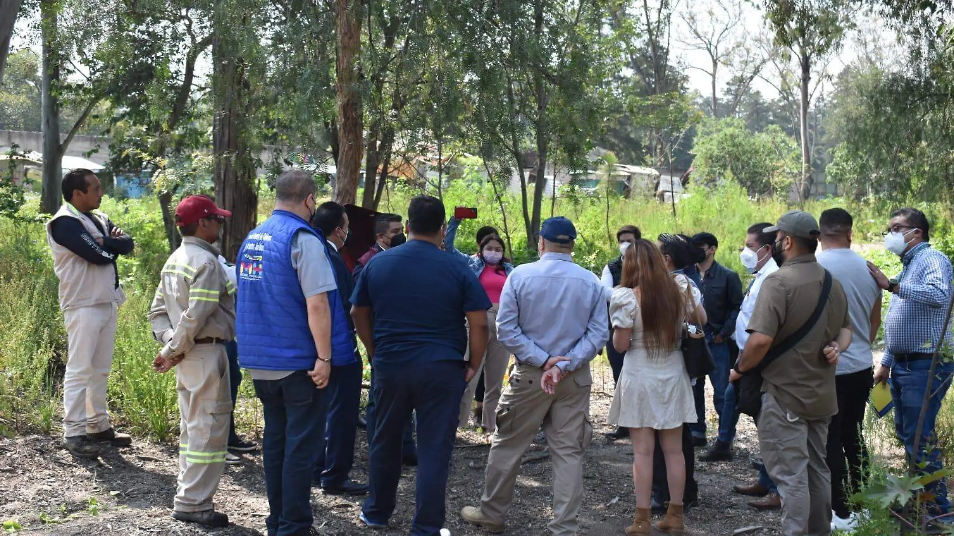
POLYGON ((372 258, 351 297, 355 329, 374 366, 371 396, 379 409, 361 520, 387 526, 401 478, 404 427, 416 411, 420 467, 412 536, 437 536, 444 526, 458 405, 487 347, 490 300, 467 262, 441 250, 445 216, 439 199, 411 199, 407 243, 372 258), (465 319, 470 361, 464 361, 465 319))

